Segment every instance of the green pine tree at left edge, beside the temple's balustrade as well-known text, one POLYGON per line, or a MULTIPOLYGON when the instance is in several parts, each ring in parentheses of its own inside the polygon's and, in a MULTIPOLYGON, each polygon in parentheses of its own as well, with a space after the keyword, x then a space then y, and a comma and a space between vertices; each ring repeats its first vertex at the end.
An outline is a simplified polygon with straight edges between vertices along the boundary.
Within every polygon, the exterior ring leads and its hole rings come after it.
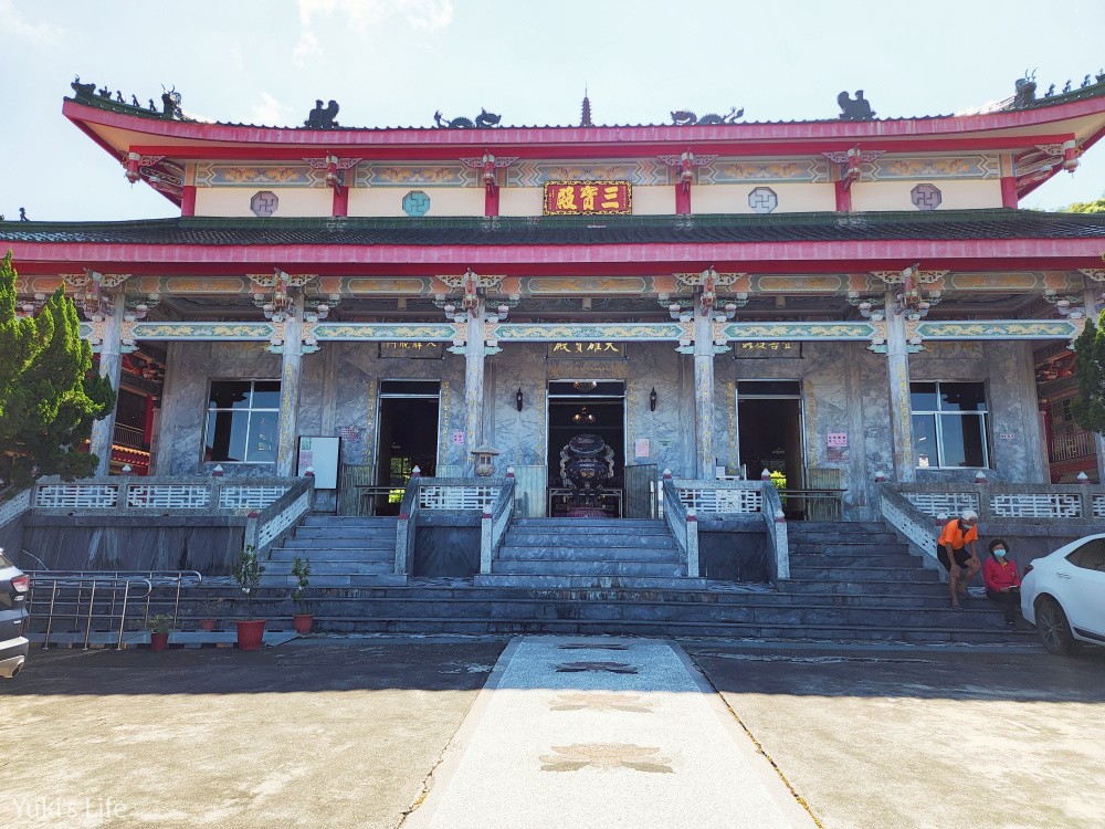
POLYGON ((77 449, 115 407, 115 392, 92 371, 64 288, 33 317, 17 317, 15 275, 9 251, 0 260, 0 481, 19 490, 41 475, 95 471, 98 459, 77 449))

